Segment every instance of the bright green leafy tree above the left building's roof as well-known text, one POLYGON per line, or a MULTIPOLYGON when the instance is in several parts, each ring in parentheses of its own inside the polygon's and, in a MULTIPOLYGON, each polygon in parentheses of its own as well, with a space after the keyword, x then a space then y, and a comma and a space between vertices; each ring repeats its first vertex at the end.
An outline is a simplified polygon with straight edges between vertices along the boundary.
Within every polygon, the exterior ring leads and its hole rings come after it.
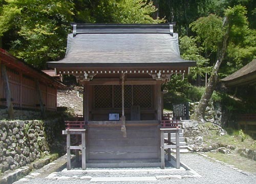
POLYGON ((65 54, 73 4, 60 0, 6 0, 0 35, 10 36, 9 52, 39 68, 65 54))

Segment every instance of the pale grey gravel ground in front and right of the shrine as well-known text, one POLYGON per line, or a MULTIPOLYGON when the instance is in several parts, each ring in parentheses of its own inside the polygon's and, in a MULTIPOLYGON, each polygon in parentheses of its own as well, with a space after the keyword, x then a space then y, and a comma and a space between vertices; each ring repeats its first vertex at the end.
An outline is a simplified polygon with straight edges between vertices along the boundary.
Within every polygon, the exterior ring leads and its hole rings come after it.
MULTIPOLYGON (((201 175, 202 177, 186 177, 182 179, 159 179, 157 181, 109 181, 109 182, 97 182, 97 183, 182 183, 182 184, 191 184, 191 183, 256 183, 256 175, 245 175, 241 173, 240 171, 234 170, 229 168, 226 165, 222 165, 220 163, 217 163, 213 160, 210 160, 208 158, 205 158, 198 154, 193 153, 186 153, 181 154, 181 163, 184 163, 189 168, 193 169, 197 174, 201 175)), ((177 171, 169 171, 171 175, 178 174, 177 171)), ((181 171, 180 175, 182 175, 181 171)), ((66 172, 69 173, 66 176, 71 176, 72 172, 66 172), (70 175, 71 174, 71 175, 70 175)), ((80 172, 81 174, 82 172, 80 172)), ((109 176, 124 176, 124 173, 118 174, 118 172, 109 173, 106 172, 105 175, 100 173, 100 175, 94 175, 94 177, 109 177, 109 176), (113 175, 113 173, 115 173, 113 175)), ((138 173, 137 172, 128 172, 125 174, 125 176, 142 176, 143 172, 138 173)), ((19 183, 89 183, 89 180, 86 179, 80 179, 80 178, 65 178, 65 172, 56 172, 56 175, 62 175, 62 179, 49 179, 49 178, 30 178, 26 177, 26 181, 19 180, 15 182, 16 184, 19 183), (62 174, 61 174, 62 173, 62 174)), ((83 174, 89 175, 87 172, 84 172, 83 174)), ((145 174, 145 173, 144 173, 145 174)), ((155 173, 156 175, 164 175, 168 174, 166 171, 162 170, 161 173, 155 173)), ((74 175, 78 175, 74 172, 74 175)), ((151 176, 154 175, 151 172, 147 172, 145 176, 151 176)), ((80 175, 79 175, 80 176, 80 175)))

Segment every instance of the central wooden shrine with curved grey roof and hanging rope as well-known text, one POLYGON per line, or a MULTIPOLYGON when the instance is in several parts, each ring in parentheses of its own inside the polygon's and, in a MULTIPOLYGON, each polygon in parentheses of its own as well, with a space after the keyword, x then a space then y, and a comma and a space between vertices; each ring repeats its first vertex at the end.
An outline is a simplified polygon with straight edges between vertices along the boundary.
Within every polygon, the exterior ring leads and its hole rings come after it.
POLYGON ((159 166, 161 85, 196 65, 180 57, 173 25, 72 27, 65 58, 48 66, 84 86, 87 166, 159 166))

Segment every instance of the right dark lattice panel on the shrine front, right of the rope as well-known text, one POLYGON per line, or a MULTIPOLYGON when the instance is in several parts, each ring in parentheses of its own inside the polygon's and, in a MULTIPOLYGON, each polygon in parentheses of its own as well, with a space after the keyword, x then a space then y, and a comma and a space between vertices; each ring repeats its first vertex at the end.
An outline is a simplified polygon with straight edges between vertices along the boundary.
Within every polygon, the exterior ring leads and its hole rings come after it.
POLYGON ((133 86, 133 105, 139 105, 142 108, 152 107, 152 85, 133 86))

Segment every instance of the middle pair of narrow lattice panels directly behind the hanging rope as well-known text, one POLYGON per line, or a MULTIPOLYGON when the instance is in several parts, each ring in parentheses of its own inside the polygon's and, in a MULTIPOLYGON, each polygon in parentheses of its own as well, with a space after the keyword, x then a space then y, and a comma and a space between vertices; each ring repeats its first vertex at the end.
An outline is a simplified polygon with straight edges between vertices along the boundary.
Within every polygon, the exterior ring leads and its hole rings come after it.
MULTIPOLYGON (((122 86, 114 85, 114 108, 122 107, 122 86)), ((130 108, 132 106, 132 86, 124 86, 124 107, 130 108)))

